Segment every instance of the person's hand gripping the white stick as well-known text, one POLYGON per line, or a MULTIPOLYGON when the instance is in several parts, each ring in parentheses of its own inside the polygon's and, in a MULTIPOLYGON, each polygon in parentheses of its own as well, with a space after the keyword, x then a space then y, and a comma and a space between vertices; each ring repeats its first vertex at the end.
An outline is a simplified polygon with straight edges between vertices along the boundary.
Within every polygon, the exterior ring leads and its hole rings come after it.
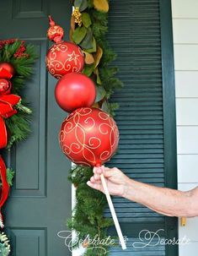
POLYGON ((100 179, 100 174, 104 174, 107 188, 112 195, 125 197, 130 178, 117 168, 94 167, 94 176, 87 182, 88 186, 104 193, 104 188, 100 179))

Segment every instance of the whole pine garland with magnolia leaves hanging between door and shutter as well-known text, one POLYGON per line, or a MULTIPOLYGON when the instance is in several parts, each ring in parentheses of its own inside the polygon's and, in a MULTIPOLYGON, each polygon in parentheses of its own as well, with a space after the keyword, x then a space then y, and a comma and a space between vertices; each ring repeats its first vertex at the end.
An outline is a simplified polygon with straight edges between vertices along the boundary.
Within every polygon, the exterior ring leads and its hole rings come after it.
MULTIPOLYGON (((94 80, 97 87, 97 99, 94 106, 115 115, 117 103, 110 103, 110 96, 122 86, 120 79, 115 77, 118 68, 111 65, 115 60, 115 52, 110 48, 106 39, 108 31, 107 0, 75 0, 75 7, 71 18, 70 39, 83 49, 85 54, 85 67, 83 74, 94 80)), ((72 219, 67 221, 67 226, 79 232, 79 239, 99 236, 100 241, 107 238, 107 231, 113 226, 113 220, 104 218, 104 209, 107 201, 104 193, 89 188, 86 182, 93 176, 92 167, 76 166, 70 170, 68 177, 76 189, 76 206, 72 219)), ((73 248, 77 248, 74 244, 73 248)), ((88 249, 85 256, 104 256, 101 248, 94 245, 85 246, 88 249)), ((107 246, 102 246, 108 251, 107 246)))

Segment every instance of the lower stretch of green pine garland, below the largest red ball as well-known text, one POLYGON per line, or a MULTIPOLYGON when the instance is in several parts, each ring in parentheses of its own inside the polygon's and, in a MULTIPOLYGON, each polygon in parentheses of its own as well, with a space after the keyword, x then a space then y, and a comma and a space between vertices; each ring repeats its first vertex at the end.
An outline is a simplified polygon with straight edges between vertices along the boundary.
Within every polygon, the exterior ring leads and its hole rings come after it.
MULTIPOLYGON (((104 208, 106 207, 106 198, 104 193, 89 188, 87 181, 93 175, 91 167, 76 166, 70 170, 68 179, 77 187, 77 204, 73 210, 72 219, 67 221, 67 226, 72 230, 79 232, 79 239, 84 239, 88 235, 95 237, 97 234, 100 239, 107 237, 107 229, 113 225, 113 221, 104 218, 104 208)), ((73 245, 76 248, 78 245, 73 245)), ((90 249, 86 255, 104 255, 104 250, 90 249), (96 251, 98 253, 96 254, 96 251), (92 253, 92 254, 88 254, 92 253)), ((107 254, 105 254, 107 255, 107 254)))

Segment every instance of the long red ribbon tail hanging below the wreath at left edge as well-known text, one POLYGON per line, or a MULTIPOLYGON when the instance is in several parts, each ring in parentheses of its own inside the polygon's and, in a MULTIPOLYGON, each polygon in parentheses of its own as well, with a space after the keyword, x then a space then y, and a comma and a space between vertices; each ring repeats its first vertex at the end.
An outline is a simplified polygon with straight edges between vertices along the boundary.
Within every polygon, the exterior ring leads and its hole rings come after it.
POLYGON ((9 184, 7 181, 6 166, 1 155, 0 155, 0 176, 2 179, 2 195, 0 199, 0 226, 3 228, 4 225, 3 225, 2 207, 5 201, 8 199, 9 184))

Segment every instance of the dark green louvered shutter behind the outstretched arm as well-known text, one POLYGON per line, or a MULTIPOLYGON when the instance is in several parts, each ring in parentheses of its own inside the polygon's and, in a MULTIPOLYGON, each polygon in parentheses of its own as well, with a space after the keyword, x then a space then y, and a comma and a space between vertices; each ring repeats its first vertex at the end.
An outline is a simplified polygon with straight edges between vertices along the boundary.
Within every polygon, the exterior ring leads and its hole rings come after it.
MULTIPOLYGON (((115 117, 120 145, 108 166, 120 168, 137 181, 174 188, 176 150, 170 20, 169 0, 110 1, 109 40, 118 54, 115 65, 120 68, 118 76, 124 88, 115 92, 112 100, 120 104, 115 117), (167 20, 169 23, 164 24, 167 20)), ((114 197, 113 202, 129 242, 127 251, 112 248, 110 256, 177 255, 176 247, 133 246, 143 229, 163 229, 159 231, 161 237, 177 236, 176 219, 119 197, 114 197)), ((110 216, 109 209, 105 215, 110 216)), ((115 230, 110 232, 115 234, 115 230)))

